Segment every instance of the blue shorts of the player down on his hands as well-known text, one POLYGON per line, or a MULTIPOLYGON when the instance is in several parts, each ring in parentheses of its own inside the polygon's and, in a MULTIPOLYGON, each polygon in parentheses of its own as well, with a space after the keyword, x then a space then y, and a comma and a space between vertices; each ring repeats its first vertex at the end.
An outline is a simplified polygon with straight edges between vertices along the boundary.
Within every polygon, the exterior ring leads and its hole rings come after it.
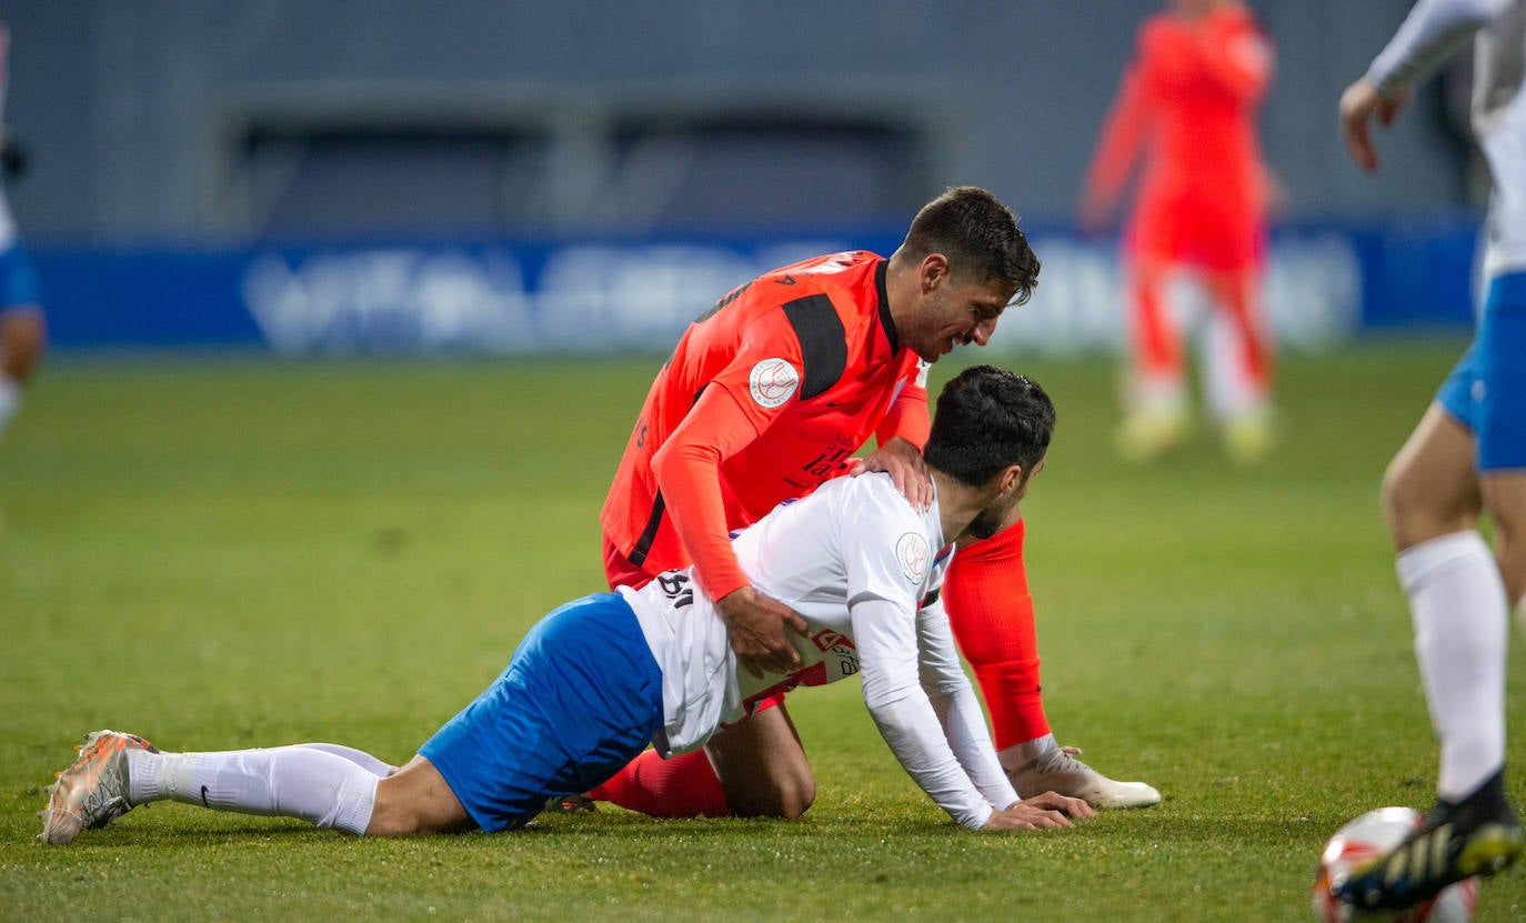
POLYGON ((597 593, 540 619, 504 674, 418 752, 491 833, 609 781, 661 726, 662 671, 636 613, 597 593))

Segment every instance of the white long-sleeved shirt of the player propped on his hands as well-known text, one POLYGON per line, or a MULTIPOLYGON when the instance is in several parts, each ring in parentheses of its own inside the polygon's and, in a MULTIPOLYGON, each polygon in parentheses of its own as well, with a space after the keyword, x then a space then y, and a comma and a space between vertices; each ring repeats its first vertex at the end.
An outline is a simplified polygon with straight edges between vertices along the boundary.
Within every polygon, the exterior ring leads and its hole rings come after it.
MULTIPOLYGON (((752 586, 807 622, 790 676, 739 674, 714 604, 690 571, 621 589, 662 668, 664 757, 696 749, 766 693, 862 674, 864 702, 902 767, 964 827, 1018 801, 937 601, 952 548, 938 507, 917 513, 888 474, 838 478, 734 540, 752 586), (931 598, 929 598, 931 597, 931 598)), ((794 635, 794 633, 792 633, 794 635)))

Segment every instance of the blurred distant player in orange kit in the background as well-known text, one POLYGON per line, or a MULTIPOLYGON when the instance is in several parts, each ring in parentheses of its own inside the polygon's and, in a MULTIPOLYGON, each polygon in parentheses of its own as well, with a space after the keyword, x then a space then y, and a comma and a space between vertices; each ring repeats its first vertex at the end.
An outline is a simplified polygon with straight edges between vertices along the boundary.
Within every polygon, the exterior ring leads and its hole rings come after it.
POLYGON ((1143 461, 1190 427, 1181 333, 1167 299, 1192 270, 1212 304, 1204 384, 1225 450, 1271 449, 1273 340, 1260 305, 1265 212, 1276 188, 1256 140, 1273 47, 1239 0, 1170 0, 1138 31, 1087 178, 1082 226, 1102 227, 1143 151, 1125 229, 1131 325, 1119 449, 1143 461))

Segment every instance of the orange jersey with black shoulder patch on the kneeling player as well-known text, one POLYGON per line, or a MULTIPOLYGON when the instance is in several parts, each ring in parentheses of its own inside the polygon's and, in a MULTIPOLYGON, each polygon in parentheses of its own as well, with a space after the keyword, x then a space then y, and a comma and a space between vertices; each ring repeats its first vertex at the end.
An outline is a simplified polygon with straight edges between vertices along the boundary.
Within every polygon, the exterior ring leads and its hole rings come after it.
POLYGON ((629 563, 693 563, 719 600, 749 583, 731 529, 841 473, 870 435, 926 441, 925 366, 900 346, 885 267, 862 250, 797 262, 688 326, 604 500, 604 539, 629 563))

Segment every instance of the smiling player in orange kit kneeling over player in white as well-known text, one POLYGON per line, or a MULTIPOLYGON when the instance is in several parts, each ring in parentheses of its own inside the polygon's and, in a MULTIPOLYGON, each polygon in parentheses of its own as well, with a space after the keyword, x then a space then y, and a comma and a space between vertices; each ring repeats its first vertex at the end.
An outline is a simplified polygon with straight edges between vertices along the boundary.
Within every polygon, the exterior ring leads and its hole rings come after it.
MULTIPOLYGON (((1012 212, 964 186, 923 206, 888 259, 818 256, 722 297, 679 340, 626 445, 603 511, 610 586, 693 564, 743 668, 789 673, 798 654, 786 632, 804 622, 752 587, 729 531, 842 473, 888 471, 926 508, 928 365, 984 345, 1038 272, 1012 212), (855 461, 870 436, 877 449, 855 461)), ((1050 734, 1021 520, 955 555, 943 600, 1019 793, 1100 807, 1160 799, 1102 777, 1050 734)), ((647 751, 589 795, 658 816, 794 818, 815 798, 815 777, 780 691, 703 751, 647 751)))

